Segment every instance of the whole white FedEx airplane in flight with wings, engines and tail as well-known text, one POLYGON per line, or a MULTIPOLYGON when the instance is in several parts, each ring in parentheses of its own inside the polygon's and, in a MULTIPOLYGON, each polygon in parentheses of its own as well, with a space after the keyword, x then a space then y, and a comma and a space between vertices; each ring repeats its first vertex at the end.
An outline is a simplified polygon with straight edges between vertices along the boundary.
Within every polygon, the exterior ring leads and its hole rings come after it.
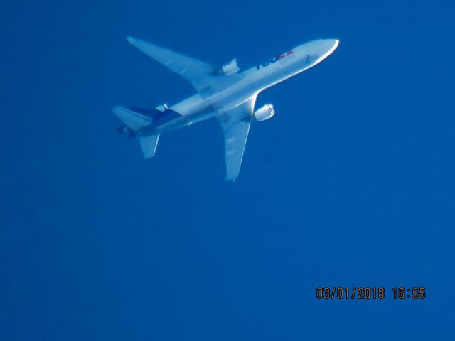
POLYGON ((152 158, 160 134, 216 117, 224 131, 226 180, 232 181, 240 172, 250 124, 275 114, 272 104, 255 110, 257 95, 320 63, 339 43, 338 39, 313 40, 241 72, 236 59, 215 67, 141 39, 129 36, 127 40, 188 80, 198 93, 171 107, 114 107, 112 112, 124 123, 117 131, 137 137, 144 158, 152 158))

